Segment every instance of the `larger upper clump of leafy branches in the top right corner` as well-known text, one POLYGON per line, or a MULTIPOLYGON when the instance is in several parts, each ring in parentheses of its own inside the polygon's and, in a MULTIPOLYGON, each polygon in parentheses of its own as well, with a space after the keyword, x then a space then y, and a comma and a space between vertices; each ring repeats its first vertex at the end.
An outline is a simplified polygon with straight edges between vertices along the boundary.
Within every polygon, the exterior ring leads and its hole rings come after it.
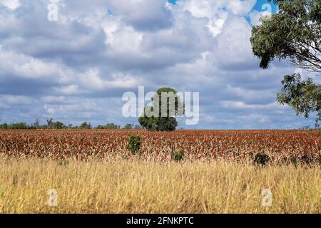
POLYGON ((321 0, 274 1, 279 12, 253 26, 250 42, 267 68, 275 58, 321 72, 321 0))

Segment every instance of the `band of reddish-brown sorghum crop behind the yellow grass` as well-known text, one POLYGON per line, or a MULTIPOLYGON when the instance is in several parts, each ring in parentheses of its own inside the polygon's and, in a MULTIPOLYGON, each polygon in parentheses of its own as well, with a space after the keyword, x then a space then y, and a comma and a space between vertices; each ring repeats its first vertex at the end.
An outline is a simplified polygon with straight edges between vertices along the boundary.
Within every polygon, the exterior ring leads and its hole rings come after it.
POLYGON ((304 130, 1 130, 0 154, 52 159, 128 158, 128 135, 141 136, 139 157, 168 161, 183 150, 184 160, 251 160, 258 153, 270 162, 320 162, 321 137, 304 130))

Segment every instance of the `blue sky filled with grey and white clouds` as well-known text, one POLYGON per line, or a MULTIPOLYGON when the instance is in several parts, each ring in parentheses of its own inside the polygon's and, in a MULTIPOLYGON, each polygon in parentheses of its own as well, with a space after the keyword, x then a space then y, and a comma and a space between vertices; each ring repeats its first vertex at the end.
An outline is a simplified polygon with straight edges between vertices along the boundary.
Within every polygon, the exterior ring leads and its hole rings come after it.
POLYGON ((275 61, 259 68, 251 26, 256 0, 0 0, 0 120, 138 123, 123 93, 163 86, 200 93, 189 129, 292 129, 313 125, 276 103, 282 76, 313 73, 275 61))

